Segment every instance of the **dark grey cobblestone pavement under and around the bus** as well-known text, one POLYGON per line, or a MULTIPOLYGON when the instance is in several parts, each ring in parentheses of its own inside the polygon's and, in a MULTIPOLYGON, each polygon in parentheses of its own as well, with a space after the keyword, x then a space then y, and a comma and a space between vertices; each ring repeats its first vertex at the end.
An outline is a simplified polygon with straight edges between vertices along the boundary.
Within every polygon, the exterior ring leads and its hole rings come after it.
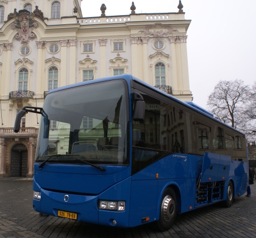
POLYGON ((256 185, 251 190, 252 197, 236 198, 231 208, 215 204, 182 214, 160 233, 150 223, 121 229, 40 216, 32 208, 31 180, 0 178, 0 237, 256 237, 256 185))

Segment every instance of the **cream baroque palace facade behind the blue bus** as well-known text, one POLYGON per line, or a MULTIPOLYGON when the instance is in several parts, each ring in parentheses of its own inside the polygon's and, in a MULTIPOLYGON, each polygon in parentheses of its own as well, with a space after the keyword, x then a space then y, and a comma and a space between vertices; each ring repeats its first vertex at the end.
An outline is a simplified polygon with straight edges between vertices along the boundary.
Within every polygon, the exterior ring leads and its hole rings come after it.
MULTIPOLYGON (((191 101, 183 6, 175 13, 83 18, 82 0, 0 0, 0 177, 32 177, 42 107, 56 87, 130 73, 182 101, 191 101)), ((99 6, 100 7, 100 6, 99 6)), ((54 127, 54 124, 51 125, 54 127)))

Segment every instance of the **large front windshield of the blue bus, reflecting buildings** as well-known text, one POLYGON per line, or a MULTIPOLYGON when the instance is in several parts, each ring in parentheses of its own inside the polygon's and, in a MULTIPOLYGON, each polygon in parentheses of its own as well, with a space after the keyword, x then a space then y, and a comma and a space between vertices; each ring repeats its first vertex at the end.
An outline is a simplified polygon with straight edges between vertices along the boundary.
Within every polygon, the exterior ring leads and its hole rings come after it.
POLYGON ((126 82, 115 80, 47 95, 35 161, 80 163, 79 158, 94 164, 129 165, 127 92, 126 82))

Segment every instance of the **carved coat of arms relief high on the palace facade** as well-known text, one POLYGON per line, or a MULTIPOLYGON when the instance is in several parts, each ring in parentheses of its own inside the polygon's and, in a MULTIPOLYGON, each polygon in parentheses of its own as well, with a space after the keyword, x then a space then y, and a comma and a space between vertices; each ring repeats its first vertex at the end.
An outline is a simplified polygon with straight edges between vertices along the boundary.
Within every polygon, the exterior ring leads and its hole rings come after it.
POLYGON ((20 10, 15 15, 15 21, 12 26, 13 30, 17 30, 15 39, 21 41, 21 44, 27 45, 30 40, 36 38, 36 35, 32 32, 38 27, 37 22, 34 19, 35 14, 30 14, 27 10, 20 10))

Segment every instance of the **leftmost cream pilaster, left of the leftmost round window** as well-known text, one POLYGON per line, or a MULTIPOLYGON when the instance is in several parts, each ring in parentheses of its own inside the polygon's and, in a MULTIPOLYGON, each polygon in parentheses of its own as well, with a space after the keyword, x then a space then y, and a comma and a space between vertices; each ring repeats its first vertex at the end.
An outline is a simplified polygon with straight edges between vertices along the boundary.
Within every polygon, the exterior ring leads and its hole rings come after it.
POLYGON ((5 63, 5 86, 4 86, 4 96, 9 97, 10 92, 10 81, 11 81, 11 72, 12 72, 12 43, 3 44, 7 49, 7 57, 5 63))

